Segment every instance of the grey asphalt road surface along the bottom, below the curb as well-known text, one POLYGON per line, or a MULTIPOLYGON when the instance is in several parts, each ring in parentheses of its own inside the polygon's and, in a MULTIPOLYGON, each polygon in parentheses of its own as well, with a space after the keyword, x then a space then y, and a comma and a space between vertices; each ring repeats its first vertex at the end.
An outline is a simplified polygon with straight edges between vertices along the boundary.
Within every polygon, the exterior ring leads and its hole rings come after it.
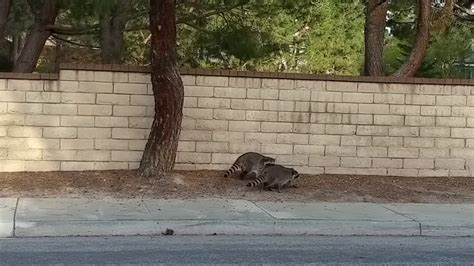
POLYGON ((472 237, 156 236, 0 239, 0 264, 474 263, 472 237))

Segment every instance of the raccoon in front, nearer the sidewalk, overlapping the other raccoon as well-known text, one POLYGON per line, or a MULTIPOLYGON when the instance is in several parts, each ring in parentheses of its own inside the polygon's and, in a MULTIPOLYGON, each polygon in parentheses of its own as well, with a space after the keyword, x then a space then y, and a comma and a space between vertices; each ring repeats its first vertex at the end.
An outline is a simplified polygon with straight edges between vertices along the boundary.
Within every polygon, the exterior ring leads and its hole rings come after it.
MULTIPOLYGON (((282 187, 289 186, 291 181, 299 176, 299 173, 293 168, 284 167, 278 164, 267 164, 263 169, 262 174, 255 180, 249 182, 247 187, 256 187, 260 185, 260 191, 262 191, 264 187, 268 188, 270 191, 272 188, 277 187, 278 192, 281 193, 282 187)), ((293 187, 297 186, 293 185, 293 187)))

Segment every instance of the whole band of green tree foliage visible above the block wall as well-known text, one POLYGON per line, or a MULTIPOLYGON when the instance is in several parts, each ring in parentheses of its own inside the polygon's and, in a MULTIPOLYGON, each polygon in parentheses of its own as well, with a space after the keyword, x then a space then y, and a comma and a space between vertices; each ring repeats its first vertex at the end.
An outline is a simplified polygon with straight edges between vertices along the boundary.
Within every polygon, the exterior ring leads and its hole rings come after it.
MULTIPOLYGON (((0 0, 0 14, 6 10, 2 3, 11 3, 7 41, 1 42, 3 71, 18 69, 23 58, 32 56, 22 56, 22 48, 32 32, 43 27, 50 36, 43 43, 37 40, 42 53, 34 62, 35 71, 54 71, 58 62, 150 64, 149 1, 54 0, 58 14, 41 26, 40 11, 49 2, 53 0, 0 0)), ((388 1, 385 75, 400 69, 415 44, 415 2, 388 1)), ((469 78, 474 64, 470 5, 467 0, 431 1, 429 43, 417 76, 469 78)), ((366 8, 363 0, 177 1, 178 65, 360 75, 366 8)))

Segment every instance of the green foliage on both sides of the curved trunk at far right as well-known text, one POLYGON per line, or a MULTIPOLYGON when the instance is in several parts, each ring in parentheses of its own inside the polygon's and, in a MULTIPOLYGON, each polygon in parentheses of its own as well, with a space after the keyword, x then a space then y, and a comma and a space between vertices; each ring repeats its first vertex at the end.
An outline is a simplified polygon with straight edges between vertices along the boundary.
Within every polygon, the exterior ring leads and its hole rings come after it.
MULTIPOLYGON (((389 9, 392 15, 387 23, 391 35, 386 36, 384 47, 384 65, 387 75, 394 73, 407 59, 414 42, 416 25, 414 2, 392 1, 389 9)), ((435 14, 436 15, 436 14, 435 14)), ((434 19, 439 19, 434 17, 434 19)), ((447 18, 449 19, 449 18, 447 18)), ((450 23, 446 32, 433 30, 430 45, 419 77, 430 78, 464 78, 459 63, 474 61, 474 25, 455 22, 450 23)))

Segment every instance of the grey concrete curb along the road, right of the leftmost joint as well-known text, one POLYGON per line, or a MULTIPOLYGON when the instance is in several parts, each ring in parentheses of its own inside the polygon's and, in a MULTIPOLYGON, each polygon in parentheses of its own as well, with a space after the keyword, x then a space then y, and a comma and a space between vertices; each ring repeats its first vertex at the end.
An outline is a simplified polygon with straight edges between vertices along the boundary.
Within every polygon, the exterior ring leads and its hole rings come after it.
POLYGON ((334 220, 123 220, 16 223, 15 237, 161 235, 474 236, 474 226, 334 220))

